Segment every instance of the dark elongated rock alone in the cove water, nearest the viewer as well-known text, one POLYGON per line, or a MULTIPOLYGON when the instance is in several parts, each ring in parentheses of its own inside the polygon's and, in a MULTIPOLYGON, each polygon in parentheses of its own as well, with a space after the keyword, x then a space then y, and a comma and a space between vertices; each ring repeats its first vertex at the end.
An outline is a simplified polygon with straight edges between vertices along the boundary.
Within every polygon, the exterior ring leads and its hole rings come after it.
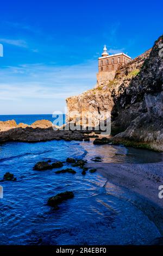
POLYGON ((50 197, 48 199, 47 204, 49 206, 54 207, 55 210, 58 210, 59 209, 58 204, 62 203, 62 201, 64 201, 64 200, 71 199, 73 197, 74 197, 74 193, 71 191, 62 192, 62 193, 57 194, 54 197, 50 197))

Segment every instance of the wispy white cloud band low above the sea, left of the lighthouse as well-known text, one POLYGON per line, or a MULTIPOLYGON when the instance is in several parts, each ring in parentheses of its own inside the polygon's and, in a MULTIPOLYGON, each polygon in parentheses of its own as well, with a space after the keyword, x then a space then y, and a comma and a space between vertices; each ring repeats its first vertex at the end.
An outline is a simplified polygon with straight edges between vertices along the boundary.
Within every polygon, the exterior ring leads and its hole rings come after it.
MULTIPOLYGON (((53 110, 63 108, 66 97, 78 95, 95 86, 96 72, 97 62, 93 60, 72 66, 48 66, 41 63, 7 66, 0 70, 1 114, 4 102, 5 106, 13 102, 11 108, 15 109, 14 113, 20 113, 22 109, 26 109, 27 113, 29 104, 35 106, 33 113, 43 113, 43 105, 51 109, 52 101, 53 110), (40 100, 42 107, 37 105, 40 100)), ((10 113, 9 109, 5 111, 10 113)))

